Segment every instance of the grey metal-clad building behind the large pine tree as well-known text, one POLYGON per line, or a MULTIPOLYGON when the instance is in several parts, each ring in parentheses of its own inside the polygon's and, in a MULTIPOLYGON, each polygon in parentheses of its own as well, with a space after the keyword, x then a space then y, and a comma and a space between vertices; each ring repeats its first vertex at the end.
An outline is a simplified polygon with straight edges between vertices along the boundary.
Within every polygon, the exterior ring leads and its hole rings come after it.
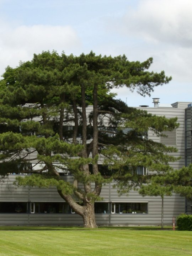
MULTIPOLYGON (((158 100, 157 100, 158 101, 158 100)), ((140 106, 149 113, 167 118, 178 117, 180 127, 165 132, 166 137, 157 137, 153 132, 148 138, 168 146, 176 146, 180 159, 172 162, 175 169, 192 162, 192 104, 176 102, 171 105, 155 103, 154 107, 140 106)), ((35 163, 33 163, 35 165, 35 163)), ((145 175, 143 167, 138 173, 145 175)), ((9 175, 1 181, 0 225, 82 225, 82 218, 73 212, 59 196, 55 188, 16 187, 16 175, 9 175)), ((63 174, 67 181, 73 181, 68 173, 63 174)), ((161 198, 142 197, 136 191, 121 197, 113 182, 103 185, 102 202, 95 203, 97 225, 161 225, 161 198)), ((178 194, 164 198, 164 224, 170 225, 172 217, 181 213, 192 213, 192 203, 178 194)))

